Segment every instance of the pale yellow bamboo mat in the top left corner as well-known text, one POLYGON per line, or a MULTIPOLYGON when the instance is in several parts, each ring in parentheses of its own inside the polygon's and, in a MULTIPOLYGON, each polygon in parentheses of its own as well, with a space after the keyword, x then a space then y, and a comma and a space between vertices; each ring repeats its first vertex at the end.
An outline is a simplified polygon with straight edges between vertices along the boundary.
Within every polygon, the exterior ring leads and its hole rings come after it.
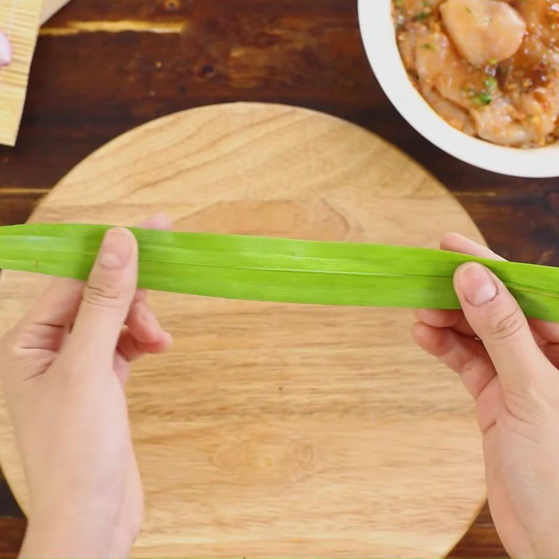
POLYGON ((0 2, 0 30, 13 48, 13 60, 0 68, 0 144, 15 145, 27 94, 43 0, 0 2))

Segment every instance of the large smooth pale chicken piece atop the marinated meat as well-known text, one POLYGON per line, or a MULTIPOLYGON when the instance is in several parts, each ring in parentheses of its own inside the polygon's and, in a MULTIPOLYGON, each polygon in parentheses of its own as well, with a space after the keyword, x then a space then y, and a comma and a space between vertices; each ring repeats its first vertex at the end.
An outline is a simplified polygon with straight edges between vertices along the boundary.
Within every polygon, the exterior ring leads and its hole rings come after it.
POLYGON ((526 32, 521 15, 501 0, 447 0, 440 13, 458 52, 474 66, 511 57, 526 32))

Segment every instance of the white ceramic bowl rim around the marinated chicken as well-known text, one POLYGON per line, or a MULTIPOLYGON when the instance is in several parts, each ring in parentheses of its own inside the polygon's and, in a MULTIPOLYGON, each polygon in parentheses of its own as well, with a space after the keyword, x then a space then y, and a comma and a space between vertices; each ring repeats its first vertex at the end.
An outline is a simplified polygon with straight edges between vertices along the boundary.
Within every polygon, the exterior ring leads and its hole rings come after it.
POLYGON ((516 177, 559 177, 559 144, 519 150, 472 138, 447 124, 409 81, 391 17, 391 0, 358 0, 361 36, 372 70, 400 114, 441 150, 469 164, 516 177))

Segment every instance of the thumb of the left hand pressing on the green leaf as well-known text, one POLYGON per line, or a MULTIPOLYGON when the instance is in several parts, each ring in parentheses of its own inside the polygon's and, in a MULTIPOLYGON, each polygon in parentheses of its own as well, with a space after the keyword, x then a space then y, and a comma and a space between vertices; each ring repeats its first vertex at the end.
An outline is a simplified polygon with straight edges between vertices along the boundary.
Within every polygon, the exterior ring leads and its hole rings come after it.
POLYGON ((68 352, 112 363, 117 342, 138 283, 138 243, 125 228, 112 228, 85 286, 68 341, 68 352))

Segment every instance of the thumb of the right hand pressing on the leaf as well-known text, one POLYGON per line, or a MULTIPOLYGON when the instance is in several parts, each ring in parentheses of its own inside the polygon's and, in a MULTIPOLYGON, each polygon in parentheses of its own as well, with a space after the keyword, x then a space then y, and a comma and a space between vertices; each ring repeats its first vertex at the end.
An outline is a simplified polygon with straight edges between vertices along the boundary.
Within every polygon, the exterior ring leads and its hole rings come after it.
POLYGON ((545 377, 552 365, 539 349, 521 307, 500 279, 481 264, 467 263, 456 270, 454 289, 505 393, 523 395, 528 386, 539 384, 539 377, 545 377))

